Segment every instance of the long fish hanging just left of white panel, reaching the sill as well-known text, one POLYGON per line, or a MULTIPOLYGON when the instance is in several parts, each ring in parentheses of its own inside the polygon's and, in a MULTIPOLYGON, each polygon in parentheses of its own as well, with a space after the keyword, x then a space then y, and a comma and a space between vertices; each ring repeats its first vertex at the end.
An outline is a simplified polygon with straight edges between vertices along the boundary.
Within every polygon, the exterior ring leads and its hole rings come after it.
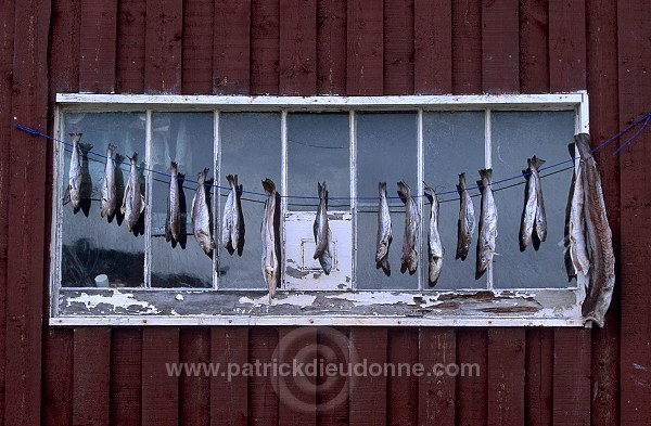
POLYGON ((263 181, 267 201, 265 202, 265 214, 263 216, 263 275, 269 288, 269 305, 276 296, 276 287, 280 279, 280 263, 276 235, 276 184, 271 179, 263 181))

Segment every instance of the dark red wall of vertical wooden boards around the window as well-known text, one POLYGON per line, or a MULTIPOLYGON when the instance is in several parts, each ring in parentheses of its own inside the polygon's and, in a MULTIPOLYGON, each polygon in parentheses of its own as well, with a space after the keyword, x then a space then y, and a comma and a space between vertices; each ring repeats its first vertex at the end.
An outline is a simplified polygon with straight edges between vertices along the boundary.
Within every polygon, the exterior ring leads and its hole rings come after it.
MULTIPOLYGON (((343 403, 271 379, 168 377, 169 361, 280 360, 292 327, 47 325, 56 92, 412 94, 586 89, 592 142, 649 109, 651 2, 0 0, 0 411, 5 425, 649 425, 651 131, 599 151, 617 256, 603 330, 342 328, 369 362, 480 377, 360 377, 343 403), (43 172, 44 171, 44 172, 43 172), (284 393, 283 393, 284 392, 284 393)), ((298 349, 297 349, 298 348, 298 349)), ((318 380, 320 380, 319 378, 318 380)))

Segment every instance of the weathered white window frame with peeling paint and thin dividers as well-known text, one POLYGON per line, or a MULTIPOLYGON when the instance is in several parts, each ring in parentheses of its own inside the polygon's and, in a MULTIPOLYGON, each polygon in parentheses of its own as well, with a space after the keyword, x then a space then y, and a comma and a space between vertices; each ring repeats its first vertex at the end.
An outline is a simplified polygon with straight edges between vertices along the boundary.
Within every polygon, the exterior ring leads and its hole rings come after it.
MULTIPOLYGON (((283 181, 286 183, 286 114, 289 112, 349 112, 352 153, 355 150, 355 112, 418 112, 419 157, 423 150, 423 112, 430 111, 573 111, 576 132, 588 132, 588 95, 585 91, 553 94, 407 95, 407 96, 218 96, 76 94, 56 95, 54 137, 62 138, 64 112, 280 112, 283 144, 283 181)), ((218 126, 218 119, 215 126, 218 126)), ((490 141, 490 120, 485 125, 490 141)), ((218 131, 215 131, 218 138, 218 131)), ((151 125, 146 131, 148 146, 151 125)), ((216 141, 217 143, 217 141, 216 141)), ((54 143, 53 199, 61 199, 63 149, 54 143)), ((353 163, 355 156, 353 155, 353 163)), ((352 166, 354 167, 354 165, 352 166)), ((486 167, 490 167, 489 156, 486 167)), ((422 162, 419 188, 422 193, 422 162)), ((150 173, 151 175, 151 173, 150 173)), ((355 188, 352 185, 352 196, 355 188)), ((148 186, 149 191, 149 186, 148 186)), ((151 195, 149 195, 151 196, 151 195)), ((286 198, 283 214, 286 210, 286 198)), ((422 208, 422 198, 419 198, 422 208)), ((583 283, 572 288, 481 291, 353 291, 282 292, 273 306, 266 293, 179 288, 65 288, 60 274, 61 203, 53 203, 50 325, 445 325, 445 326, 583 326, 583 283), (219 304, 216 301, 219 300, 219 304)), ((146 211, 146 210, 145 210, 146 211)), ((352 202, 355 218, 355 201, 352 202)), ((355 230, 355 220, 353 223, 355 230)), ((145 237, 148 235, 145 234, 145 237)), ((145 254, 145 276, 151 259, 145 254)), ((422 275, 422 274, 421 274, 422 275)), ((215 280, 215 277, 214 277, 215 280)), ((146 282, 146 279, 145 279, 146 282)), ((490 283, 490 280, 489 280, 490 283)))

